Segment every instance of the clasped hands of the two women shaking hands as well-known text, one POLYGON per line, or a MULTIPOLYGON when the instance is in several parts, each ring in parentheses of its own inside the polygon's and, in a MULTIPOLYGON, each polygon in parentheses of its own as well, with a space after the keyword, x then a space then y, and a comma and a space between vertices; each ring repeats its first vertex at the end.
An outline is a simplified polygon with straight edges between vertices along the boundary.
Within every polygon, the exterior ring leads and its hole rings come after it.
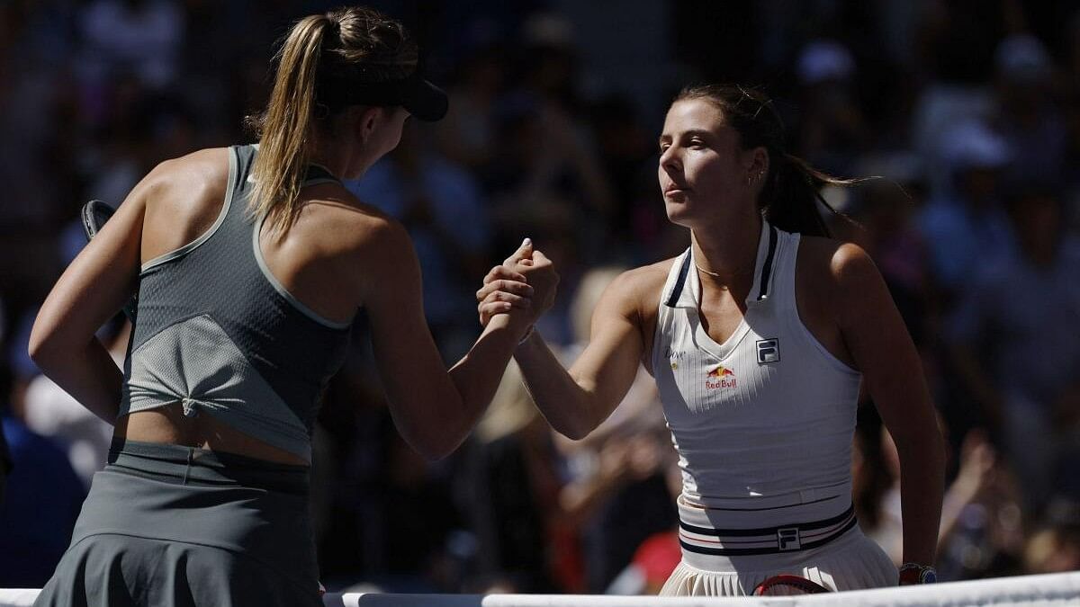
POLYGON ((487 326, 498 314, 521 314, 528 320, 527 337, 534 323, 554 304, 557 285, 551 259, 525 239, 513 255, 484 276, 484 285, 476 292, 480 322, 487 326))

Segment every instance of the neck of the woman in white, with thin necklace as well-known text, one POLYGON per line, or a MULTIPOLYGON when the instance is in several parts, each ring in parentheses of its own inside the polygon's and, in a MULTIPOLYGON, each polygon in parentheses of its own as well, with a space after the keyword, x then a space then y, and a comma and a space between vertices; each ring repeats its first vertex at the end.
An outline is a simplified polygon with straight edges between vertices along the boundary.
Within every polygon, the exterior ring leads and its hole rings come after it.
POLYGON ((702 280, 725 288, 747 279, 752 284, 760 237, 761 216, 757 213, 726 220, 723 226, 691 230, 693 258, 702 280))

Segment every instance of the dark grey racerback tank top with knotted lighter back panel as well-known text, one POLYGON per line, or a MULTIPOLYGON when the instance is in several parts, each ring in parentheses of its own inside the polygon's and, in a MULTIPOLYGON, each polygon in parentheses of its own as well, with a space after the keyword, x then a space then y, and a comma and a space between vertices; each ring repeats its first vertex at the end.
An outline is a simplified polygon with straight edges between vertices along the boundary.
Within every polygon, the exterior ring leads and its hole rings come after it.
MULTIPOLYGON (((124 364, 120 415, 180 402, 311 461, 323 391, 345 360, 352 323, 293 297, 258 246, 247 198, 257 146, 229 148, 229 184, 214 225, 146 262, 124 364)), ((337 181, 319 166, 305 185, 337 181)))

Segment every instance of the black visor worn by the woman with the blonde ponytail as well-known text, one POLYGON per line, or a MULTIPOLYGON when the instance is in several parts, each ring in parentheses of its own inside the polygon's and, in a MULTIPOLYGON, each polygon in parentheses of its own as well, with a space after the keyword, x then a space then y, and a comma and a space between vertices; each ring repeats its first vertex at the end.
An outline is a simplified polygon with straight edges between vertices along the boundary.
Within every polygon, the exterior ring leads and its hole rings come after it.
POLYGON ((319 100, 330 108, 402 106, 424 122, 441 120, 449 106, 446 93, 416 72, 408 78, 384 82, 326 79, 320 87, 319 100))

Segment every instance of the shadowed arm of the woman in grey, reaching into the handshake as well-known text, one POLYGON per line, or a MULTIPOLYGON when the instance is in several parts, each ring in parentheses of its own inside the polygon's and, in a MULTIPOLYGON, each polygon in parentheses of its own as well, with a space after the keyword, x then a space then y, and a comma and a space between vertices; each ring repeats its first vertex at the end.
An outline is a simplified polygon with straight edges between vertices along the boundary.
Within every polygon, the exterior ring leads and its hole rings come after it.
MULTIPOLYGON (((523 245, 515 257, 524 257, 523 245)), ((529 253, 531 253, 529 251, 529 253)), ((418 453, 440 459, 456 449, 495 396, 518 340, 550 307, 558 276, 551 262, 534 265, 529 291, 536 308, 505 308, 485 327, 469 352, 447 370, 423 314, 420 266, 408 234, 386 221, 365 247, 368 270, 364 306, 372 345, 390 413, 402 436, 418 453)), ((516 306, 530 306, 518 300, 516 306)))

